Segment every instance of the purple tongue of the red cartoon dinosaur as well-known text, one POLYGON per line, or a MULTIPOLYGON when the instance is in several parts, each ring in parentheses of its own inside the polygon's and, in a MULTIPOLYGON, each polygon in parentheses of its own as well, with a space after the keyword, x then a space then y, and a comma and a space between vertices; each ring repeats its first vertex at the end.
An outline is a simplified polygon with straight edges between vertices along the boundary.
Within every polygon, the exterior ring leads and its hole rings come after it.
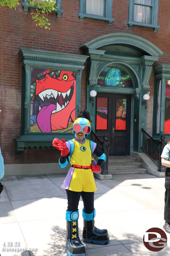
POLYGON ((56 109, 55 104, 43 106, 37 115, 37 124, 42 132, 51 132, 51 112, 56 109))

